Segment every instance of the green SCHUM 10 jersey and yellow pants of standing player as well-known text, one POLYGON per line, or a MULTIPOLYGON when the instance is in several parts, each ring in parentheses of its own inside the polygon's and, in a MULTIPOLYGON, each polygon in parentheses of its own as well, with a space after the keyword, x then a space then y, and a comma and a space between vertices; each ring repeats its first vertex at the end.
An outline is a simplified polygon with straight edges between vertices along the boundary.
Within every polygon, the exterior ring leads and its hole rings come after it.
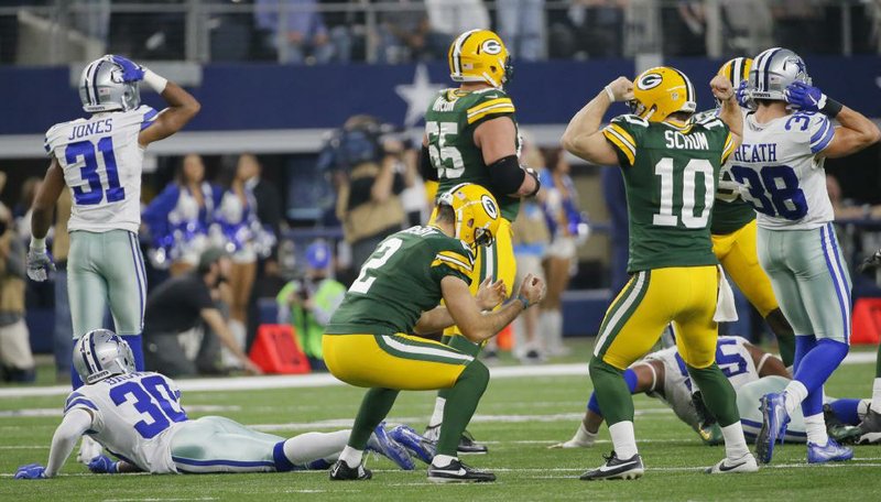
POLYGON ((616 118, 602 133, 623 172, 633 275, 606 313, 595 357, 623 370, 674 323, 685 362, 707 368, 718 290, 710 211, 720 166, 735 150, 731 133, 716 118, 678 127, 635 116, 616 118))

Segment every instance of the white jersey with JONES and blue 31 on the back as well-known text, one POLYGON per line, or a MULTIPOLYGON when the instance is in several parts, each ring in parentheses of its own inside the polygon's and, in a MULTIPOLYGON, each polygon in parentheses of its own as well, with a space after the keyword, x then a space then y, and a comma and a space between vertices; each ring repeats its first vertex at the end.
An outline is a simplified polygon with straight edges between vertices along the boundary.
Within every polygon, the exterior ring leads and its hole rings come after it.
POLYGON ((141 106, 58 123, 46 132, 46 153, 58 160, 74 200, 68 230, 138 232, 144 156, 138 135, 156 114, 141 106))

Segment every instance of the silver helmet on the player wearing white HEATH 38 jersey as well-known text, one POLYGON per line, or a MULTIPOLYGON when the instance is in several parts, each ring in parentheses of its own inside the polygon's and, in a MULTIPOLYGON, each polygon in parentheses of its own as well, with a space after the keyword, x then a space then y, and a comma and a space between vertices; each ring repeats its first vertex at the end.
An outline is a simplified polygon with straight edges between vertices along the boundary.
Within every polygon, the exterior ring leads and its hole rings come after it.
POLYGON ((788 48, 773 47, 755 56, 750 69, 749 97, 785 101, 783 94, 794 81, 811 85, 805 62, 788 48))

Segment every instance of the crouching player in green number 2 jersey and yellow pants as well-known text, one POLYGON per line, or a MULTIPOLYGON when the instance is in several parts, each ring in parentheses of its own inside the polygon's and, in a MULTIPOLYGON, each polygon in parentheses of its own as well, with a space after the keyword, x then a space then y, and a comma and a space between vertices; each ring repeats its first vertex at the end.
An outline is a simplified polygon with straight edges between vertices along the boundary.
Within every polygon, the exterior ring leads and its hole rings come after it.
POLYGON ((469 290, 472 250, 492 242, 501 215, 486 188, 461 184, 442 195, 434 222, 385 238, 352 283, 324 335, 324 358, 344 382, 370 388, 348 446, 330 471, 331 480, 369 479, 362 466, 370 434, 385 418, 402 390, 449 389, 444 427, 428 467, 435 482, 493 481, 491 472, 461 463, 457 447, 489 382, 489 370, 472 356, 411 336, 456 323, 472 343, 508 326, 544 297, 544 283, 527 276, 516 299, 491 309, 502 293, 478 301, 469 290), (438 306, 440 299, 445 306, 438 306))

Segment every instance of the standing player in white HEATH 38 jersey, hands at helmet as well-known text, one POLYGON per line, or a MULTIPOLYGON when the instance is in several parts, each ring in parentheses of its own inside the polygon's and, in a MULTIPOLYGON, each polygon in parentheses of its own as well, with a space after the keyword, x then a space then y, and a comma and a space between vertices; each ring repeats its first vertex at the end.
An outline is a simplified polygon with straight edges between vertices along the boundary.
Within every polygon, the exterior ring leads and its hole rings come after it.
MULTIPOLYGON (((733 99, 733 89, 714 83, 733 99)), ((736 107, 722 112, 731 131, 742 134, 731 175, 758 212, 759 261, 796 335, 794 380, 784 392, 762 399, 757 456, 771 461, 774 444, 801 405, 807 461, 848 460, 853 451, 829 439, 823 418, 823 384, 848 352, 851 287, 831 226, 823 164, 871 145, 881 131, 813 87, 804 61, 785 48, 759 54, 737 94, 754 111, 746 119, 736 107)))

